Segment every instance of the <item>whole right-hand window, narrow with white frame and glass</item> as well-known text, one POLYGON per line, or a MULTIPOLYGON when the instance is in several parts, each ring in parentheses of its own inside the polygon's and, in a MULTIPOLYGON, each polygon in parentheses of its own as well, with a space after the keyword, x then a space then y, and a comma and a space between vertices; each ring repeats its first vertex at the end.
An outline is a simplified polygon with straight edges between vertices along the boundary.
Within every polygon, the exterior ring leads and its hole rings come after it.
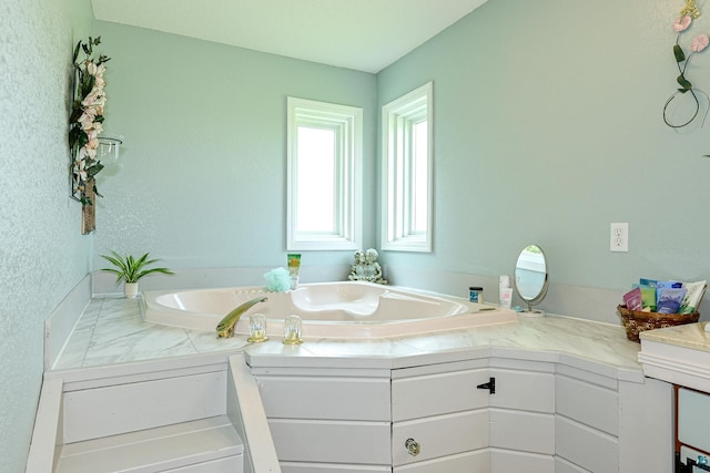
POLYGON ((382 110, 382 249, 432 251, 433 83, 382 110))

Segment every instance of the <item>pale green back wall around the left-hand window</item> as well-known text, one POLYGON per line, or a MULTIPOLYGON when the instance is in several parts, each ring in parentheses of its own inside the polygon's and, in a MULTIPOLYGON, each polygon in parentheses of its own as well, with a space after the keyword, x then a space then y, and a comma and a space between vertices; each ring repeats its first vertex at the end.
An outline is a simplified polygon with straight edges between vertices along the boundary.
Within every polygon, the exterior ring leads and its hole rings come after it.
MULTIPOLYGON (((365 245, 374 246, 376 78, 346 69, 97 21, 108 63, 98 255, 143 253, 174 268, 284 266, 286 97, 364 109, 365 245)), ((304 264, 348 264, 352 251, 304 264)), ((262 281, 254 281, 261 284, 262 281)))

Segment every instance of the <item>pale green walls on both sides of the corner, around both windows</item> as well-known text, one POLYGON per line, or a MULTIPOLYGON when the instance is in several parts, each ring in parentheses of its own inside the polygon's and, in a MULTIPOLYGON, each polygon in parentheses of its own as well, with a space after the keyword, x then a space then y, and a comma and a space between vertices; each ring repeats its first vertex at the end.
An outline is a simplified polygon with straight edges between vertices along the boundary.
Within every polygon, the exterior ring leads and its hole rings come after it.
MULTIPOLYGON (((98 21, 113 58, 106 134, 125 147, 99 183, 94 267, 109 248, 176 268, 283 265, 287 95, 364 107, 364 246, 376 247, 378 109, 432 80, 435 250, 383 264, 496 276, 535 241, 552 284, 709 278, 708 132, 661 117, 681 3, 490 0, 376 76, 98 21), (611 222, 630 224, 629 253, 609 251, 611 222)), ((699 88, 708 54, 689 69, 699 88)))

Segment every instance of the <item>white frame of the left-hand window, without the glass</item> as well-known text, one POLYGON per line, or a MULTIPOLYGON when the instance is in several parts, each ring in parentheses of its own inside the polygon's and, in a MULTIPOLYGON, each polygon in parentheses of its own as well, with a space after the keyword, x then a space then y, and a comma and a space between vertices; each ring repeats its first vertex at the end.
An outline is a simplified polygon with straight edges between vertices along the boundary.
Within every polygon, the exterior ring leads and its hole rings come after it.
POLYGON ((290 96, 286 122, 286 249, 359 249, 363 240, 363 109, 290 96), (298 126, 336 132, 334 232, 298 230, 298 126))

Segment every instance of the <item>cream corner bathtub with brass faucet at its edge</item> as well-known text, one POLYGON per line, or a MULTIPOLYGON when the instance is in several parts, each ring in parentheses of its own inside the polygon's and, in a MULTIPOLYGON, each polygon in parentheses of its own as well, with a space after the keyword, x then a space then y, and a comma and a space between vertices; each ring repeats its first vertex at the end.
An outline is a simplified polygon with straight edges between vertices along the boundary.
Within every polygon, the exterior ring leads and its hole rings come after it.
POLYGON ((237 335, 248 333, 248 315, 256 312, 266 316, 271 338, 283 337, 285 316, 301 316, 305 339, 395 338, 517 320, 513 310, 359 281, 304 284, 286 292, 267 292, 263 287, 145 291, 143 316, 148 322, 215 331, 226 313, 260 296, 268 300, 242 316, 237 335))

